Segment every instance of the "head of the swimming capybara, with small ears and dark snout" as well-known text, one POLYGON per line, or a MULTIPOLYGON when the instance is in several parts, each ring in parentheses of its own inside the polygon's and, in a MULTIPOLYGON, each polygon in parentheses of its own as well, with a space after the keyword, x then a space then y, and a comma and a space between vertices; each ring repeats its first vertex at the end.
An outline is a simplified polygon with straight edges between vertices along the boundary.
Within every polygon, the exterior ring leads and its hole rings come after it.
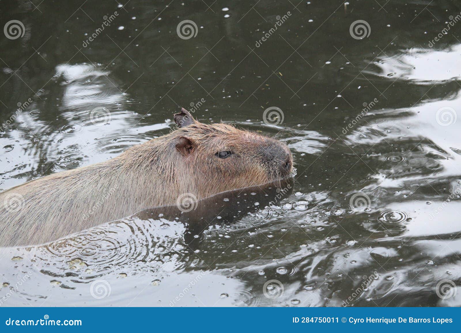
POLYGON ((174 119, 173 155, 190 168, 199 197, 290 176, 290 149, 278 140, 227 124, 202 124, 185 109, 174 119))

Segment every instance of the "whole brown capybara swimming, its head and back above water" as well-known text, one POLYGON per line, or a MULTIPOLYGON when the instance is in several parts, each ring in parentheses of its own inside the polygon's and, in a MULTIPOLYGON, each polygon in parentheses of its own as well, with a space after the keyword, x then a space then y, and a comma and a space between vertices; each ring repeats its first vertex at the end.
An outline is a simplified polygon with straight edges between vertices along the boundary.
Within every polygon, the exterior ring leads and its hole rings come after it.
POLYGON ((58 172, 0 193, 0 246, 33 245, 145 208, 179 208, 218 193, 288 178, 290 149, 185 109, 177 129, 117 157, 58 172))

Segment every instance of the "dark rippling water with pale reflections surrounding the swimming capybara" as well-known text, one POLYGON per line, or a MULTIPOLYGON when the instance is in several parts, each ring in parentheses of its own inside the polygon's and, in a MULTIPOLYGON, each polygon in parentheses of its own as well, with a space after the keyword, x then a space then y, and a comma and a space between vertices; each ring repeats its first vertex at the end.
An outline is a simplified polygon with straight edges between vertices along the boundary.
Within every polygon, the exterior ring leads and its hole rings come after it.
POLYGON ((2 190, 168 133, 180 106, 278 135, 296 167, 284 196, 215 198, 201 223, 148 211, 2 249, 2 306, 460 305, 458 2, 0 7, 24 26, 0 37, 2 190))

